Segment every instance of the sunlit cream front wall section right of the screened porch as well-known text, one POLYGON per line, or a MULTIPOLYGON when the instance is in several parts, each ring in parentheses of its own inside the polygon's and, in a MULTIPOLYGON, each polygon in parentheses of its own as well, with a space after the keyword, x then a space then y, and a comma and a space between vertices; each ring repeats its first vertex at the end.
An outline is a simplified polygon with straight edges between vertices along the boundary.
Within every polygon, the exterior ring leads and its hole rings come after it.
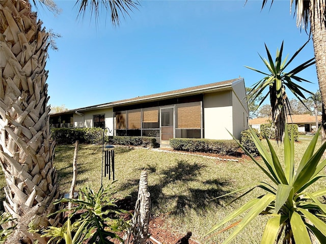
POLYGON ((228 131, 233 133, 232 92, 205 94, 203 120, 204 138, 231 140, 228 131))

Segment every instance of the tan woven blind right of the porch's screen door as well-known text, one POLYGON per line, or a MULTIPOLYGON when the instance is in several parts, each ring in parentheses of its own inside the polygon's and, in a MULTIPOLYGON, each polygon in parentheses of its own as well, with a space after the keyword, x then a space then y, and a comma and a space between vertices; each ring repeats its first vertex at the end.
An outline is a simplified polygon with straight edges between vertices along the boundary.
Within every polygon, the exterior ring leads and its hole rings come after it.
POLYGON ((178 106, 178 129, 200 129, 201 128, 201 106, 198 105, 185 105, 178 106))

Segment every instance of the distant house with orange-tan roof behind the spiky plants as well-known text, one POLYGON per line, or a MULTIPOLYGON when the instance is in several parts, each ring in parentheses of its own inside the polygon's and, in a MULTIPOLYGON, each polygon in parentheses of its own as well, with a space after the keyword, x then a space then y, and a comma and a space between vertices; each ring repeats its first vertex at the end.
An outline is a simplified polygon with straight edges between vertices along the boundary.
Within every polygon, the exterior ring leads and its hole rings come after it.
MULTIPOLYGON (((318 125, 321 124, 321 116, 317 116, 318 125)), ((249 119, 252 128, 260 130, 260 125, 270 123, 269 118, 249 119)), ((310 114, 292 114, 287 116, 287 124, 296 124, 299 133, 311 133, 316 131, 316 116, 310 114)))

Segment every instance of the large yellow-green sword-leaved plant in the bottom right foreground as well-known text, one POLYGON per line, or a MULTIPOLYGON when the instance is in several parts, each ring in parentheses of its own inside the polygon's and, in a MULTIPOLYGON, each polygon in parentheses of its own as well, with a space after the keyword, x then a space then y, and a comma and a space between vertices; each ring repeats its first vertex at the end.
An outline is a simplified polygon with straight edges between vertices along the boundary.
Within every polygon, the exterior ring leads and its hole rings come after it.
MULTIPOLYGON (((284 164, 281 164, 270 141, 266 139, 270 151, 268 153, 268 150, 251 129, 252 138, 265 166, 261 165, 257 159, 251 156, 244 147, 240 144, 239 146, 246 151, 273 183, 257 182, 220 196, 224 197, 247 190, 244 194, 233 200, 235 201, 257 187, 266 192, 233 211, 220 223, 213 226, 206 236, 249 210, 241 221, 232 223, 225 228, 235 227, 223 243, 229 243, 258 215, 270 217, 265 226, 261 243, 273 244, 275 241, 278 243, 281 236, 283 236, 283 243, 307 244, 312 243, 311 238, 318 239, 320 243, 326 243, 326 224, 320 220, 320 217, 326 217, 326 204, 318 200, 318 197, 326 194, 326 188, 322 188, 316 192, 309 192, 307 190, 318 179, 326 177, 326 175, 320 174, 326 166, 326 160, 319 162, 326 148, 326 143, 323 143, 314 153, 319 131, 320 129, 311 140, 301 162, 295 167, 294 140, 290 140, 288 133, 284 135, 284 164), (282 235, 283 233, 284 235, 282 235)), ((293 131, 291 138, 293 138, 293 131)))

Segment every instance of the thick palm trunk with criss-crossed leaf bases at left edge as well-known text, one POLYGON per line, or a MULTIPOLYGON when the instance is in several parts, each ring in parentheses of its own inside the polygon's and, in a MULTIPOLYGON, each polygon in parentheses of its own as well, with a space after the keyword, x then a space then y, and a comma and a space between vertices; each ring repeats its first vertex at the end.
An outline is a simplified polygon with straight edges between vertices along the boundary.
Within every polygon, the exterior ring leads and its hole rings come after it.
POLYGON ((48 35, 28 1, 1 0, 0 17, 0 164, 7 181, 4 207, 18 222, 10 243, 46 243, 26 230, 31 221, 36 228, 47 225, 59 195, 48 123, 48 35))

